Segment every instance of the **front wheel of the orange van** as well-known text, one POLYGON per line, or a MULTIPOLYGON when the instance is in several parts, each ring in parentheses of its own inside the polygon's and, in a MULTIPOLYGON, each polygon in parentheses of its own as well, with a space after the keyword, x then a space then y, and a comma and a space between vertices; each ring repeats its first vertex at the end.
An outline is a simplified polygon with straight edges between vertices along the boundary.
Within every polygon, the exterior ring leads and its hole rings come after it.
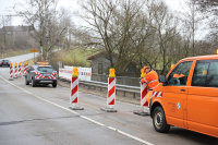
POLYGON ((153 111, 153 125, 157 132, 165 133, 170 130, 170 125, 167 124, 165 112, 160 106, 153 111))

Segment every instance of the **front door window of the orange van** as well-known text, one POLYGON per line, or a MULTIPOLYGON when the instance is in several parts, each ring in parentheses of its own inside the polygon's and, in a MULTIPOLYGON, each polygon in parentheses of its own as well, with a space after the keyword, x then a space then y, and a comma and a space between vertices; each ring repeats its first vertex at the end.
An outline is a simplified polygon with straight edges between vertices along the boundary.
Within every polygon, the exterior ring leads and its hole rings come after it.
POLYGON ((192 61, 185 61, 180 63, 168 76, 168 85, 171 86, 186 85, 192 61))

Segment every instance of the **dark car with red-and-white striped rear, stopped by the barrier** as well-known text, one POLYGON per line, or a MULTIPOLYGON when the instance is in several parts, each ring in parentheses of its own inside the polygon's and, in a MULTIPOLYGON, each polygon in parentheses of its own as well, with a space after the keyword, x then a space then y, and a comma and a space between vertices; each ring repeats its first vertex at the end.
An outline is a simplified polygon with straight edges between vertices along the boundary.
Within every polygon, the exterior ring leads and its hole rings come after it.
POLYGON ((57 72, 51 65, 33 65, 29 67, 25 75, 25 84, 35 87, 39 84, 52 84, 53 87, 57 87, 57 72))

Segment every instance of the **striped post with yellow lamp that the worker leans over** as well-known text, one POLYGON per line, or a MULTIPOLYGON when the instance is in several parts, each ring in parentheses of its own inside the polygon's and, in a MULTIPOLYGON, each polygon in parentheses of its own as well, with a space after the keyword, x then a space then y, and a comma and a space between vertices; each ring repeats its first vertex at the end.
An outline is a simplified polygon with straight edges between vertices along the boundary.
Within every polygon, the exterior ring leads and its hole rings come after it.
MULTIPOLYGON (((145 77, 146 73, 144 69, 141 70, 141 78, 145 77)), ((148 109, 148 101, 147 101, 147 95, 148 95, 148 87, 146 83, 140 83, 141 84, 141 108, 142 110, 133 111, 135 114, 140 116, 148 116, 149 112, 147 111, 148 109)))

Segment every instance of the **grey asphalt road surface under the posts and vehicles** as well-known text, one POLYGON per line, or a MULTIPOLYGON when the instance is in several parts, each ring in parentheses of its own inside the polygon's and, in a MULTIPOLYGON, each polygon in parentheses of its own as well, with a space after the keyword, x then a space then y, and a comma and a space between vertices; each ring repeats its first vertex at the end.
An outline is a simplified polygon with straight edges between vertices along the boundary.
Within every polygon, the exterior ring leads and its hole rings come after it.
POLYGON ((136 105, 117 101, 118 112, 104 112, 106 98, 80 92, 85 110, 72 111, 70 88, 32 87, 23 77, 8 78, 9 69, 0 68, 0 145, 218 144, 218 138, 174 126, 157 133, 149 117, 133 114, 136 105))

